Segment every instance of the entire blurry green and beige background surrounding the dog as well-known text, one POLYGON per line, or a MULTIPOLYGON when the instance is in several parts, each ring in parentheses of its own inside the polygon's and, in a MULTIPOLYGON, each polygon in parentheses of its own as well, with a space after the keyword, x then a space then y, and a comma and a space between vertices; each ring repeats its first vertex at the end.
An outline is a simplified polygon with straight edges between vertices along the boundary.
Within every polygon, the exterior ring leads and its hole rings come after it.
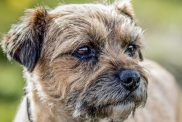
MULTIPOLYGON (((91 0, 0 0, 0 38, 23 11, 38 5, 89 3, 91 0)), ((182 85, 182 0, 133 0, 138 23, 145 30, 144 55, 173 73, 182 85)), ((0 122, 11 122, 23 95, 22 68, 8 62, 0 49, 0 122)))

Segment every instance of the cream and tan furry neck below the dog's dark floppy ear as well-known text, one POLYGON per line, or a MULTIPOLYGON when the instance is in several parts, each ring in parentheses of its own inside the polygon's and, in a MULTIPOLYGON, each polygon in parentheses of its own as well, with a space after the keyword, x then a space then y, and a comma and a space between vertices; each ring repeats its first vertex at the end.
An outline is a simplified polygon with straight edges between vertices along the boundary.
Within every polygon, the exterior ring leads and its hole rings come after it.
POLYGON ((24 106, 28 122, 77 122, 65 111, 62 103, 47 99, 35 75, 28 72, 24 75, 27 78, 24 106))

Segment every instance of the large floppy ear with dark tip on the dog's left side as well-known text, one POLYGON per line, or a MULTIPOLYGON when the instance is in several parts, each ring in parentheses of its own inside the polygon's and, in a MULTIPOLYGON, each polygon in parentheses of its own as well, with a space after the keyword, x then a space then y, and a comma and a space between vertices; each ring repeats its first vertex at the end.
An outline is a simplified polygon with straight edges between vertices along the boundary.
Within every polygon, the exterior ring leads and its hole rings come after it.
POLYGON ((43 7, 27 10, 21 22, 4 36, 3 51, 32 71, 40 56, 47 21, 48 14, 43 7))

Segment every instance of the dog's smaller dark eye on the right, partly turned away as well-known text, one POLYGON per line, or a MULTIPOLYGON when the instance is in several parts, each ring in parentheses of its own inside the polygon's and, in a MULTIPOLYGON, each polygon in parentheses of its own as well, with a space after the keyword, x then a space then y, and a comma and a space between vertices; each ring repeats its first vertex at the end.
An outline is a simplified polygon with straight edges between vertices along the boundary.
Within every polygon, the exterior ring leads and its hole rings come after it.
POLYGON ((134 44, 129 44, 128 47, 125 50, 125 53, 128 54, 128 56, 133 57, 136 54, 137 47, 134 44))

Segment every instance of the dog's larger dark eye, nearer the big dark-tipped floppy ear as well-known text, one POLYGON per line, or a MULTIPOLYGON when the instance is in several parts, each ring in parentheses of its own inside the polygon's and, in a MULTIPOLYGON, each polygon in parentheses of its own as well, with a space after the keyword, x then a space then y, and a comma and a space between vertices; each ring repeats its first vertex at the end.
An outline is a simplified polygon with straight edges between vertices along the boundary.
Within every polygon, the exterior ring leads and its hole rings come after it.
POLYGON ((90 46, 82 46, 74 51, 72 55, 81 61, 87 61, 96 56, 96 51, 90 46))

